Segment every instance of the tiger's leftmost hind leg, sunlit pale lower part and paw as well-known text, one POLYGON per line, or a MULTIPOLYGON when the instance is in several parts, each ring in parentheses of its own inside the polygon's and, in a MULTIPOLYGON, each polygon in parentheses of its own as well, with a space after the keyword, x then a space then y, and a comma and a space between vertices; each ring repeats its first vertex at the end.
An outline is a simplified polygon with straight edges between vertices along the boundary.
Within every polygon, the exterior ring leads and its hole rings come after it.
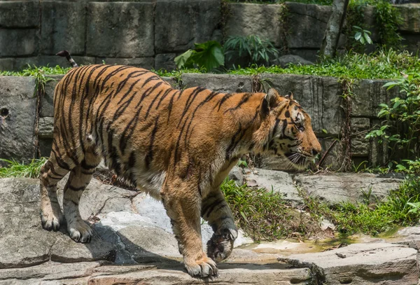
POLYGON ((41 167, 41 223, 45 230, 59 229, 62 211, 57 200, 57 183, 69 173, 69 168, 65 162, 57 163, 54 151, 41 167))

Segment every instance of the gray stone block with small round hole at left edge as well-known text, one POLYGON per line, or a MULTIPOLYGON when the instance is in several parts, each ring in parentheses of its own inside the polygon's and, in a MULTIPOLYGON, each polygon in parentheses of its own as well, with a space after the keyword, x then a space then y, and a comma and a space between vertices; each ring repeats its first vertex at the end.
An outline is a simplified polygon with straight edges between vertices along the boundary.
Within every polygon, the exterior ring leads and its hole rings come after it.
POLYGON ((0 158, 34 157, 35 79, 0 76, 0 158))

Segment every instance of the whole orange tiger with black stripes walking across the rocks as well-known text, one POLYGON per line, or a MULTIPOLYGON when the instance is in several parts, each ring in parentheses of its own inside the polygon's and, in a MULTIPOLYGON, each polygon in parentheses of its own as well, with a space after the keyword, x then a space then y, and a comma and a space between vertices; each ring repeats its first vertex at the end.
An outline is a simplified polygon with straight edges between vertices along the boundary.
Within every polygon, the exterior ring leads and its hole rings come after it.
POLYGON ((160 200, 193 277, 218 275, 238 230, 221 184, 239 158, 261 153, 287 158, 303 169, 321 151, 311 118, 293 95, 222 93, 202 87, 178 90, 152 71, 124 65, 73 68, 57 83, 50 157, 41 167, 41 223, 90 242, 80 196, 104 158, 137 190, 160 200), (66 175, 63 212, 57 183, 66 175), (204 252, 201 218, 214 234, 204 252))

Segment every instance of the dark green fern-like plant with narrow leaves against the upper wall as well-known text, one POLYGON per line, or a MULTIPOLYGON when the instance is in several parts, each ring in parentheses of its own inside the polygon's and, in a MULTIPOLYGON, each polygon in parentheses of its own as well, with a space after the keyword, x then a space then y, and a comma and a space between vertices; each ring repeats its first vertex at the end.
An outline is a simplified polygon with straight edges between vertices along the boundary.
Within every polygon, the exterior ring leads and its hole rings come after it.
POLYGON ((277 50, 271 41, 261 39, 259 36, 230 36, 225 42, 225 55, 228 60, 239 55, 245 58, 248 66, 251 64, 268 63, 270 57, 277 57, 277 50))

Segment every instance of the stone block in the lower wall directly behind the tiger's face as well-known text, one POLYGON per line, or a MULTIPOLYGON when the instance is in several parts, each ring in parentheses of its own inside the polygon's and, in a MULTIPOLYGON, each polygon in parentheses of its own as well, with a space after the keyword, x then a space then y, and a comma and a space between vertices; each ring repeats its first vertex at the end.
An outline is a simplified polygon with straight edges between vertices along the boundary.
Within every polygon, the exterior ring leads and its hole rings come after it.
POLYGON ((260 78, 276 88, 280 95, 292 92, 312 119, 315 134, 327 130, 330 135, 341 132, 344 120, 340 107, 342 88, 337 78, 295 74, 261 74, 260 78))

